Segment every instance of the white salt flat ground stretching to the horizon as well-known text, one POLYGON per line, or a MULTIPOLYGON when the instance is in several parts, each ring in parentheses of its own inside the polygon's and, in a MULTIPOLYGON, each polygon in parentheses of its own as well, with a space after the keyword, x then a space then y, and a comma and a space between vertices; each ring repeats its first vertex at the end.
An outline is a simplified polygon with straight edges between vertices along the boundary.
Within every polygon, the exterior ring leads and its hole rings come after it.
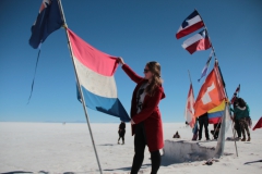
MULTIPOLYGON (((257 123, 257 122, 254 122, 257 123)), ((103 173, 128 174, 133 158, 133 137, 127 124, 126 144, 118 145, 119 124, 92 124, 93 135, 103 173)), ((210 125, 210 129, 213 126, 210 125)), ((192 132, 183 123, 164 123, 166 154, 163 154, 159 174, 261 174, 262 128, 250 130, 251 141, 226 141, 225 154, 212 165, 203 165, 198 150, 214 149, 216 141, 191 141, 192 132), (181 138, 174 139, 179 132, 181 138), (169 151, 168 151, 169 148, 169 151), (172 151, 170 151, 170 149, 172 151), (175 157, 176 156, 176 157, 175 157), (200 160, 200 161, 199 161, 200 160)), ((231 137, 231 127, 226 137, 231 137)), ((204 134, 203 134, 204 137, 204 134)), ((202 138, 203 139, 203 138, 202 138)), ((205 151, 205 150, 204 150, 205 151)), ((0 173, 98 174, 87 125, 84 123, 0 123, 0 173)), ((150 174, 150 152, 146 148, 140 174, 150 174)))

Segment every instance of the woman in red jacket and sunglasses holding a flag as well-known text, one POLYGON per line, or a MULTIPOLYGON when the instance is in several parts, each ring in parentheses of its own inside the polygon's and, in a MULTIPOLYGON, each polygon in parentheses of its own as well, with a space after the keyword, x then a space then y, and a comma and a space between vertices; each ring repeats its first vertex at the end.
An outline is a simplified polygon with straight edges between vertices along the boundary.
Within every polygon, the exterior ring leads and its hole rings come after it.
POLYGON ((163 125, 159 101, 165 98, 160 79, 160 64, 148 62, 144 69, 144 77, 135 74, 122 58, 119 58, 122 70, 136 83, 131 101, 131 124, 134 135, 134 158, 131 174, 136 174, 144 160, 144 149, 147 145, 151 152, 152 174, 160 166, 159 149, 164 147, 163 125))

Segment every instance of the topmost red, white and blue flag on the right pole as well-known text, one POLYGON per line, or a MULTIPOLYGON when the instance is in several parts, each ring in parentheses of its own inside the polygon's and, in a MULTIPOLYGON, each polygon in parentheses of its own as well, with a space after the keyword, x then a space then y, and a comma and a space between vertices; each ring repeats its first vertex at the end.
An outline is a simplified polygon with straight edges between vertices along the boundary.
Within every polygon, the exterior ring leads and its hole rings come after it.
POLYGON ((201 27, 204 26, 204 22, 202 21, 199 12, 196 10, 193 11, 181 24, 176 34, 177 39, 180 39, 183 36, 187 36, 201 27))

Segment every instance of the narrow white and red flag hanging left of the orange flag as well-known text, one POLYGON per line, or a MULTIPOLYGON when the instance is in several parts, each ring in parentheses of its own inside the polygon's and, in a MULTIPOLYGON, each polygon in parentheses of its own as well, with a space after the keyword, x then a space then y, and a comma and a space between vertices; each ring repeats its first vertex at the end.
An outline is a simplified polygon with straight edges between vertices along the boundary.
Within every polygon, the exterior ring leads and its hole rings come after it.
POLYGON ((189 92, 188 92, 188 99, 186 104, 186 111, 184 111, 184 119, 190 125, 190 127, 194 127, 195 117, 194 117, 194 95, 193 95, 193 86, 190 84, 189 92))

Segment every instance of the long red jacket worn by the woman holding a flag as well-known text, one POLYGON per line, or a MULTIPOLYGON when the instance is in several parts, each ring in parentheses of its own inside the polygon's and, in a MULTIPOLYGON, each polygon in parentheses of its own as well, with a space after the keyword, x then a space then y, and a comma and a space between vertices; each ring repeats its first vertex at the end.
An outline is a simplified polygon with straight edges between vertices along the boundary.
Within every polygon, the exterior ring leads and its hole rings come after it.
MULTIPOLYGON (((164 147, 164 136, 158 103, 165 98, 164 89, 159 86, 155 89, 155 95, 153 97, 146 95, 143 101, 142 111, 136 114, 136 92, 141 85, 147 82, 147 79, 135 74, 127 64, 122 65, 122 70, 134 83, 138 84, 132 95, 131 119, 135 124, 144 122, 145 137, 150 151, 159 150, 164 147)), ((135 133, 135 124, 132 125, 132 135, 135 133)))

